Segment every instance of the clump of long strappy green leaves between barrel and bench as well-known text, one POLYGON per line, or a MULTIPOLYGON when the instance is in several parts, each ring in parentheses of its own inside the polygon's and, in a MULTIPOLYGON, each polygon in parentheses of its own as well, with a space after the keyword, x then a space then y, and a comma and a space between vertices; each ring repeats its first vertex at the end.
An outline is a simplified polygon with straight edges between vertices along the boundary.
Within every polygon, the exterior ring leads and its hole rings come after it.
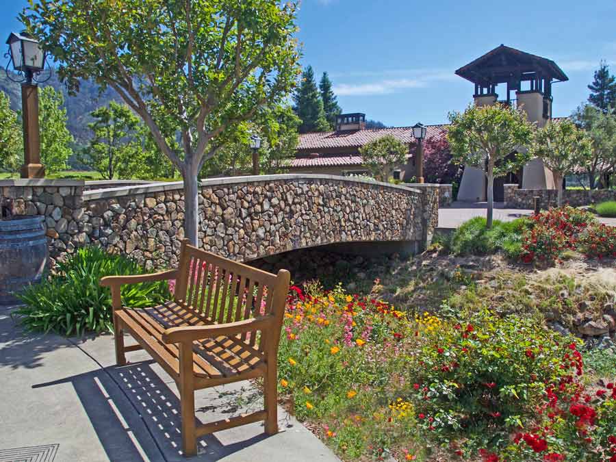
MULTIPOLYGON (((79 248, 67 261, 57 265, 40 283, 26 287, 18 298, 25 306, 16 310, 25 329, 81 335, 85 331, 112 331, 112 301, 109 287, 101 287, 102 277, 145 274, 135 261, 111 255, 99 247, 79 248)), ((146 307, 168 300, 165 281, 125 285, 123 303, 146 307)))

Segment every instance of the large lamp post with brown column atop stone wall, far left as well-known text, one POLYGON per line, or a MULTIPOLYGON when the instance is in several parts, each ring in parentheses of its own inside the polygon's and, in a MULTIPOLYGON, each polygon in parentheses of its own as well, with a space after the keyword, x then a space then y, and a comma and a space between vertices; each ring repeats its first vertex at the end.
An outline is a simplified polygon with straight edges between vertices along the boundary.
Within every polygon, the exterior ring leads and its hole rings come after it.
MULTIPOLYGON (((49 80, 49 75, 40 78, 46 63, 45 52, 38 41, 27 32, 12 32, 6 40, 9 46, 5 57, 9 58, 5 72, 9 79, 21 83, 21 110, 23 113, 23 153, 22 178, 44 178, 45 169, 40 163, 40 131, 38 127, 38 86, 49 80), (18 79, 12 77, 8 66, 12 63, 18 79)), ((49 66, 48 66, 49 67, 49 66)))

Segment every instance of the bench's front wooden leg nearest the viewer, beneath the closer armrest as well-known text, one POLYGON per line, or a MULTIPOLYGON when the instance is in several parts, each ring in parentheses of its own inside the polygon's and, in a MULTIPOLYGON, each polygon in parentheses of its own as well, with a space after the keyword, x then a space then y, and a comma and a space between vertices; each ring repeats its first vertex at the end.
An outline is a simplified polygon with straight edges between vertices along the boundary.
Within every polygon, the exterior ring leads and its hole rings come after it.
POLYGON ((192 344, 180 344, 179 348, 179 392, 182 418, 182 450, 185 456, 194 456, 196 448, 196 426, 194 416, 194 376, 192 375, 192 344))

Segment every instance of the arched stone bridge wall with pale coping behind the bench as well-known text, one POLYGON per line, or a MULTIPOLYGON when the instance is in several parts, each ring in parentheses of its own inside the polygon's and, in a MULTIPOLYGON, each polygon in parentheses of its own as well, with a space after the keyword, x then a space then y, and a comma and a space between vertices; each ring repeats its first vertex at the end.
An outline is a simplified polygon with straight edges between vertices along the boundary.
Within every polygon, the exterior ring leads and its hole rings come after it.
MULTIPOLYGON (((149 268, 177 264, 182 183, 107 187, 68 180, 3 180, 3 213, 44 215, 57 259, 98 242, 149 268), (92 187, 98 189, 91 189, 92 187)), ((198 246, 240 261, 326 244, 426 246, 439 185, 393 185, 330 175, 261 175, 201 182, 198 246)))

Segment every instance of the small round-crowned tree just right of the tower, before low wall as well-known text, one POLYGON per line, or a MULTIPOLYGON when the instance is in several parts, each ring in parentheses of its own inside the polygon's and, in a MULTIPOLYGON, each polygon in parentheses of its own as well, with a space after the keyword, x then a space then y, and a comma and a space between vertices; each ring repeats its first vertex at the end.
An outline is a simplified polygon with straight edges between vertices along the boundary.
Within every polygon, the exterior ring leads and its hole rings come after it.
POLYGON ((592 142, 571 120, 550 120, 545 127, 535 131, 529 154, 531 157, 540 157, 543 165, 552 170, 558 190, 557 205, 561 207, 563 178, 589 162, 592 142))

